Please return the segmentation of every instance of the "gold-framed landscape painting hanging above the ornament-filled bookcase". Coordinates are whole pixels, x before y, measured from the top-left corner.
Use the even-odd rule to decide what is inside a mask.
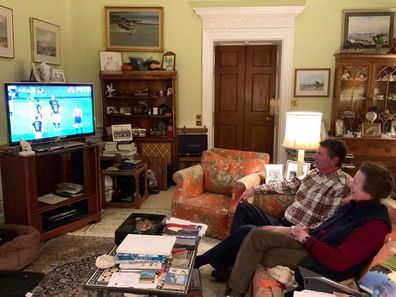
[[[107,50],[163,51],[163,7],[105,6],[105,19]]]

